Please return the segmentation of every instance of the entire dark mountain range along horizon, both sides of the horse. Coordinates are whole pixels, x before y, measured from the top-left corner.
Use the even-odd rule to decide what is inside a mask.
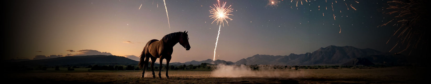
[[[380,51],[365,48],[355,48],[353,46],[328,46],[326,48],[319,48],[312,53],[305,54],[289,54],[284,56],[262,55],[256,54],[252,57],[247,57],[237,62],[225,60],[192,60],[185,63],[173,62],[170,65],[198,65],[201,63],[211,64],[226,64],[226,65],[373,65],[384,63],[403,63],[409,61],[409,57],[404,55],[394,55],[389,53],[382,53]],[[13,62],[13,61],[9,61]],[[25,60],[15,62],[18,64],[32,64],[32,65],[72,65],[72,64],[131,64],[136,65],[138,61],[128,59],[120,56],[106,56],[106,55],[91,55],[91,56],[69,56],[57,57],[42,60]],[[158,64],[157,64],[158,65]]]

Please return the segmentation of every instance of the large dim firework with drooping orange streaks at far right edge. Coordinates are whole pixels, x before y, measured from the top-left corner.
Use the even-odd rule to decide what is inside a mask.
[[[425,10],[427,9],[427,3],[425,3],[426,1],[427,0],[394,0],[387,2],[389,3],[389,6],[386,8],[388,12],[383,13],[388,15],[396,14],[397,16],[387,23],[379,25],[378,27],[385,26],[391,22],[394,24],[393,26],[398,27],[398,25],[400,25],[398,30],[395,31],[394,35],[392,35],[395,36],[398,34],[398,39],[396,39],[398,40],[396,42],[397,44],[394,45],[390,51],[392,51],[397,46],[398,48],[405,48],[402,51],[395,53],[400,54],[408,49],[416,49],[418,47],[426,48],[429,46],[423,45],[428,40],[426,38],[429,38],[427,35],[425,35],[425,30],[427,30],[427,27],[425,26],[427,25],[423,25],[427,23],[426,21],[428,21],[424,19],[424,15],[426,14]],[[389,38],[386,43],[388,43],[390,40],[391,38]],[[404,45],[404,43],[406,43],[406,45]],[[409,55],[411,52],[412,50],[410,50]]]

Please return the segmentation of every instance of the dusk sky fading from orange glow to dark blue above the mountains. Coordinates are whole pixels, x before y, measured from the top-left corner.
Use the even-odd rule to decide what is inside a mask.
[[[382,13],[387,0],[336,1],[304,0],[296,6],[295,0],[275,5],[269,0],[220,0],[233,8],[233,20],[221,27],[215,59],[305,54],[329,45],[382,52],[394,46],[386,42],[398,27],[377,27],[393,17]],[[169,28],[163,0],[11,1],[5,6],[9,51],[3,59],[78,56],[80,50],[139,56],[149,40],[184,30],[191,50],[177,44],[171,62],[212,59],[219,28],[209,17],[213,4],[217,0],[166,0]]]

